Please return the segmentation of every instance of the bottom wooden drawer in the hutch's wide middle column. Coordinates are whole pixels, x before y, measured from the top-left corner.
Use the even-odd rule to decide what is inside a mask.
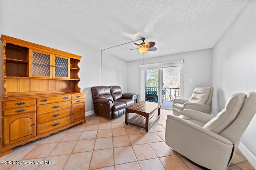
[[[37,134],[46,133],[70,124],[70,116],[37,125]]]

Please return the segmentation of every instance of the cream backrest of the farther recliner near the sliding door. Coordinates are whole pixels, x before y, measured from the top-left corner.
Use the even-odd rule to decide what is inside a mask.
[[[212,87],[196,87],[190,99],[189,103],[198,103],[198,104],[206,104],[208,106],[212,105],[212,95],[213,88]]]

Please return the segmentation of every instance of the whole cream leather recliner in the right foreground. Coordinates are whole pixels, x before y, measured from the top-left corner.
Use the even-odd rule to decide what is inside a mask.
[[[256,92],[250,92],[232,95],[216,117],[191,109],[168,115],[166,144],[200,166],[225,170],[255,112]]]

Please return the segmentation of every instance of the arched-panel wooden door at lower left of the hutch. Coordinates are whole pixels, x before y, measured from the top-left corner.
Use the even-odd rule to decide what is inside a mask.
[[[36,136],[36,112],[4,117],[4,145]]]

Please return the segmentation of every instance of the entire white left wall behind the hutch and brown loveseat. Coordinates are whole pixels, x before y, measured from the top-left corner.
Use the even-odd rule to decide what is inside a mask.
[[[127,62],[102,52],[102,82],[101,82],[101,50],[81,43],[46,27],[25,20],[1,9],[0,35],[22,39],[46,47],[66,51],[82,56],[79,63],[78,86],[86,92],[86,115],[94,113],[92,104],[92,86],[118,85],[122,92],[127,92]]]

